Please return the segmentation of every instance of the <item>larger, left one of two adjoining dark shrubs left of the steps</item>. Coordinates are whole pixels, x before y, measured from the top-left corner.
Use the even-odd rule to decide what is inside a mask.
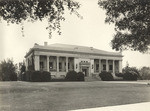
[[[67,81],[77,81],[77,72],[76,71],[69,71],[66,74],[65,80],[67,80]]]

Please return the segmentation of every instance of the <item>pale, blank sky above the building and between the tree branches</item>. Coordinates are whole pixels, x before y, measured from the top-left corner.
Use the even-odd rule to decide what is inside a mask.
[[[48,23],[46,20],[35,23],[24,23],[24,37],[21,26],[16,24],[7,25],[5,21],[0,23],[0,61],[13,58],[14,63],[22,62],[25,54],[34,43],[44,45],[62,43],[94,47],[100,50],[115,52],[111,48],[111,40],[115,34],[114,25],[106,24],[105,10],[99,8],[98,0],[76,0],[81,4],[78,10],[83,19],[75,14],[65,11],[66,20],[61,23],[62,34],[53,32],[49,39]],[[150,54],[142,54],[137,51],[123,51],[123,67],[129,66],[141,68],[150,67]]]

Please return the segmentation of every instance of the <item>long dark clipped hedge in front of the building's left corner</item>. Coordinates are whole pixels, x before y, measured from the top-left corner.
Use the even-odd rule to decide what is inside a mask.
[[[26,71],[22,73],[23,81],[31,81],[31,82],[48,82],[51,80],[51,75],[46,71]]]

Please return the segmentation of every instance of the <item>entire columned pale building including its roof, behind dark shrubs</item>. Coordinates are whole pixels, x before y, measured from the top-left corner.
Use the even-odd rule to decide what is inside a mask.
[[[25,55],[26,69],[51,72],[52,77],[64,77],[68,71],[83,72],[85,76],[109,71],[113,75],[122,72],[122,54],[93,47],[51,44],[35,44]]]

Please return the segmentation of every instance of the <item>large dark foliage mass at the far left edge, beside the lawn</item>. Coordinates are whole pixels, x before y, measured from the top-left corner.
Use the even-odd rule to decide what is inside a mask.
[[[16,67],[13,60],[8,59],[0,63],[0,80],[2,81],[17,81]]]

